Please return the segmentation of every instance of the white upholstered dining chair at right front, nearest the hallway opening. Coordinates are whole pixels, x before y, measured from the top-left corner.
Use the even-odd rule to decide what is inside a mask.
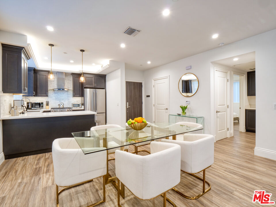
[[[205,170],[214,163],[214,136],[207,134],[184,134],[182,140],[162,139],[162,142],[175,143],[181,146],[181,171],[203,181],[202,192],[197,196],[186,196],[173,188],[184,198],[195,200],[211,189],[210,183],[205,180]],[[194,175],[203,171],[203,178]],[[205,189],[205,183],[209,185]]]

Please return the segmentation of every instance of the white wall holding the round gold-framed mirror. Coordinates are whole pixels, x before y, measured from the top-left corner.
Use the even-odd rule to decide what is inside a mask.
[[[271,30],[223,47],[218,47],[144,72],[146,119],[152,121],[152,79],[170,75],[170,114],[180,112],[179,105],[191,101],[188,114],[204,116],[204,131],[215,135],[213,66],[211,62],[227,57],[256,51],[256,147],[255,154],[276,160],[276,30]],[[192,65],[191,70],[185,66]],[[183,97],[178,89],[179,78],[194,73],[199,79],[198,92],[192,97]],[[263,91],[262,85],[268,85]],[[274,94],[274,95],[272,95]]]

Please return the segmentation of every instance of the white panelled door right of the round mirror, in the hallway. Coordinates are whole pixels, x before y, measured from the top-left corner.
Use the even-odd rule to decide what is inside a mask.
[[[228,81],[227,73],[215,71],[216,141],[228,137]]]

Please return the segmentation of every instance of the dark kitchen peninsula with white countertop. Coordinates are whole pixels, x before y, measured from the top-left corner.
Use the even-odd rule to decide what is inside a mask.
[[[52,151],[57,138],[72,137],[72,132],[88,131],[95,126],[92,111],[27,112],[3,116],[3,153],[5,159]]]

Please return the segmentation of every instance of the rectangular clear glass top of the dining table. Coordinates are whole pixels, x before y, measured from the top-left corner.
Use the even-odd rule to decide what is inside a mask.
[[[135,143],[168,138],[202,129],[202,127],[192,127],[189,125],[148,123],[147,126],[140,131],[135,131],[129,126],[125,126],[74,132],[72,135],[81,147],[83,153],[90,154],[116,148],[122,150],[124,147]]]

